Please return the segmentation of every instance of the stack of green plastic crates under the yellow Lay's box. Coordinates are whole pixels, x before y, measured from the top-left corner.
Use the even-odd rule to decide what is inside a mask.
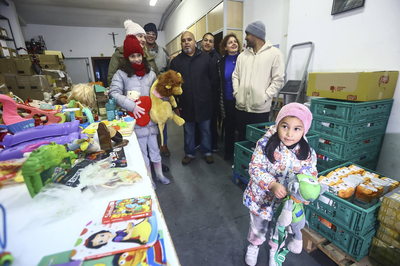
[[[318,170],[343,162],[374,170],[392,105],[393,99],[371,102],[312,99],[309,132],[320,136],[315,148],[320,157]]]

